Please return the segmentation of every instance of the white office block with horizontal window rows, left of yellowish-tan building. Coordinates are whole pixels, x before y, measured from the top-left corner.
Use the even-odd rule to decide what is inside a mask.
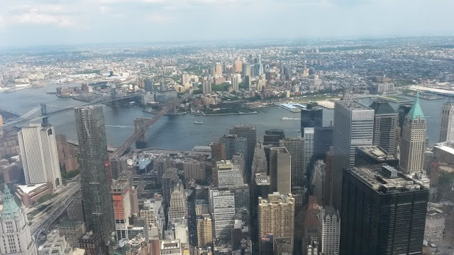
[[[225,189],[211,188],[209,204],[214,220],[214,237],[228,241],[235,220],[235,195]]]

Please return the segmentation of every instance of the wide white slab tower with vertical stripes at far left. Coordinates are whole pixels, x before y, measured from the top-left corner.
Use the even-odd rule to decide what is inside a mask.
[[[27,184],[52,183],[55,190],[62,184],[55,130],[34,125],[18,132],[23,173]]]

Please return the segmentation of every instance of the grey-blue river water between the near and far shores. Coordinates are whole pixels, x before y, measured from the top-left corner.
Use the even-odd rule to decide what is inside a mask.
[[[55,91],[59,85],[47,86],[40,89],[23,89],[9,94],[0,94],[0,108],[24,114],[40,103],[48,104],[48,111],[55,111],[58,107],[79,106],[83,102],[72,98],[60,98],[48,91]],[[370,98],[362,98],[362,103],[369,106]],[[421,99],[421,107],[428,122],[428,137],[431,145],[438,140],[440,125],[440,108],[443,100]],[[394,108],[398,103],[390,103]],[[104,106],[106,132],[109,145],[120,145],[133,132],[133,120],[136,117],[151,117],[153,114],[144,113],[142,108],[111,108]],[[228,132],[231,125],[240,123],[255,125],[258,139],[262,140],[265,130],[281,128],[286,137],[296,137],[299,133],[299,120],[282,120],[282,118],[299,118],[299,113],[292,113],[283,108],[272,106],[257,108],[258,114],[248,115],[220,115],[220,116],[194,116],[168,115],[163,116],[153,127],[148,130],[148,146],[159,149],[190,150],[195,145],[208,145],[209,142],[218,140]],[[194,125],[194,121],[202,121],[203,125]],[[323,108],[323,125],[329,125],[333,120],[333,110]],[[49,119],[55,127],[57,134],[67,135],[72,140],[77,140],[74,127],[74,113],[62,113]]]

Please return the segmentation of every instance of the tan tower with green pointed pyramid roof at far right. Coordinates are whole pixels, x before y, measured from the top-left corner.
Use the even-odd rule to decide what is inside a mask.
[[[426,150],[426,117],[419,106],[419,92],[413,107],[406,115],[402,127],[399,169],[407,174],[423,171],[424,151]]]

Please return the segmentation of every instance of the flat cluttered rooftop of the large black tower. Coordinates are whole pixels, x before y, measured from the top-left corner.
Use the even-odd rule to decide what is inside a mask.
[[[412,179],[387,164],[352,167],[346,171],[382,194],[413,192],[428,188],[425,183]]]

